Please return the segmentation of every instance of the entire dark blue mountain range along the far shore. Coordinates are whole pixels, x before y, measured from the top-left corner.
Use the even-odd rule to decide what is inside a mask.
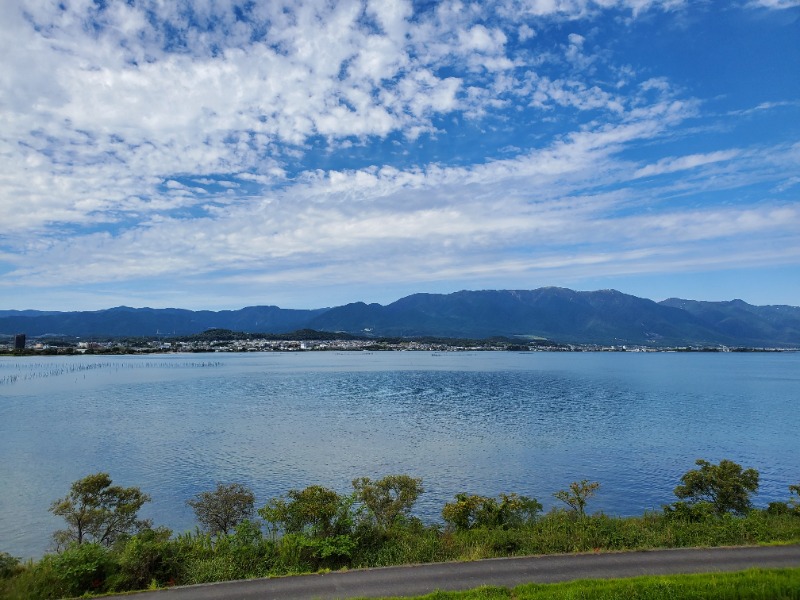
[[[356,302],[287,310],[118,307],[93,312],[0,311],[0,334],[80,337],[191,335],[211,328],[251,333],[298,329],[373,336],[548,338],[567,343],[651,346],[800,347],[800,308],[741,300],[653,302],[615,290],[565,288],[413,294],[386,306]]]

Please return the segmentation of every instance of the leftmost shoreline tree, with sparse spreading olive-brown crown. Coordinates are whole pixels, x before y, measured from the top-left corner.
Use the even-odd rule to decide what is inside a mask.
[[[111,483],[108,473],[87,475],[74,482],[64,498],[53,502],[50,512],[63,517],[68,526],[53,534],[58,548],[83,542],[110,546],[122,535],[150,527],[150,521],[137,518],[150,496],[139,488]]]

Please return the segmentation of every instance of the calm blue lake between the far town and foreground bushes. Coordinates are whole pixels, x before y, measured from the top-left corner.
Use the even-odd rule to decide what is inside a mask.
[[[192,530],[186,500],[240,482],[257,506],[408,473],[439,521],[458,492],[545,508],[601,484],[589,512],[659,510],[697,458],[800,483],[798,353],[299,352],[0,358],[0,551],[38,557],[70,484],[109,472],[141,515]]]

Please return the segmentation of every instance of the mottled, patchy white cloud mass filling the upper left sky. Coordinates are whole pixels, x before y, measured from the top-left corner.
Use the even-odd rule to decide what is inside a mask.
[[[165,195],[162,180],[244,171],[274,181],[281,155],[315,135],[344,146],[393,132],[414,140],[436,130],[438,115],[479,117],[505,106],[497,93],[529,85],[503,74],[515,65],[506,34],[475,23],[480,15],[459,3],[442,3],[430,18],[400,1],[111,6],[42,0],[23,12],[3,4],[0,43],[11,68],[0,75],[0,149],[10,158],[0,213],[8,228],[182,208],[191,197]],[[250,20],[237,20],[234,7]],[[437,75],[453,57],[497,78],[482,87]],[[537,106],[622,110],[597,86],[535,81]],[[29,208],[20,211],[23,199]]]

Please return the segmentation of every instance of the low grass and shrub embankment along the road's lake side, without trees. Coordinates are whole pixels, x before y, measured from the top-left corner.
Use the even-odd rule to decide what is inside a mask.
[[[196,532],[172,536],[168,530],[155,529],[121,540],[110,548],[85,543],[58,554],[46,555],[36,563],[9,565],[0,580],[0,597],[62,598],[327,569],[513,555],[799,541],[800,516],[770,514],[757,509],[744,516],[708,515],[700,519],[688,519],[666,512],[618,518],[605,515],[579,517],[573,512],[552,511],[518,527],[469,530],[443,529],[408,519],[385,530],[367,524],[356,525],[350,535],[329,538],[289,534],[272,539],[263,533],[261,527],[244,522],[229,535],[211,537]],[[754,589],[780,590],[783,588],[775,586],[784,585],[773,582],[777,575],[767,576],[756,572],[742,577],[752,580],[748,585]],[[780,575],[781,581],[786,577],[791,577],[795,589],[800,589],[797,585],[800,575],[797,572]],[[643,595],[637,597],[691,597],[682,592],[671,596],[647,595],[651,594],[650,587],[656,590],[652,594],[672,589],[658,583],[661,580],[654,578],[652,584],[642,584]],[[512,592],[491,591],[506,595],[465,597],[551,597],[526,595],[534,594],[537,589],[536,586],[525,586],[513,591],[515,595],[510,596],[508,594]],[[601,597],[595,594],[594,588],[586,589],[592,590],[591,593],[584,594],[579,588],[567,586],[563,592],[565,595],[552,597]],[[631,597],[627,592],[615,591],[618,589],[624,591],[626,588],[612,586],[608,591],[611,595],[605,597]],[[485,590],[474,592],[488,593]],[[796,597],[774,595],[771,592],[765,592],[764,596],[726,594],[719,592],[712,597]]]

